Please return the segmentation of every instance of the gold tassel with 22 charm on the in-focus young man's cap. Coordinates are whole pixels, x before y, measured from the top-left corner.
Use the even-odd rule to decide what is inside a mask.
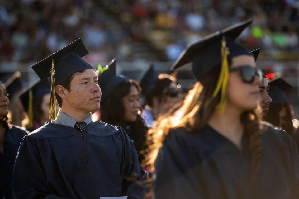
[[[52,68],[51,68],[51,87],[50,87],[50,107],[49,107],[49,119],[56,119],[56,96],[55,96],[55,70],[54,70],[54,59],[52,59]]]

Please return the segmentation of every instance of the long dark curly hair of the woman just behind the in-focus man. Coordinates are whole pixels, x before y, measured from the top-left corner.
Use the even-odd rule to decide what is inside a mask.
[[[133,79],[119,83],[109,95],[101,101],[101,121],[111,125],[119,125],[124,130],[130,132],[130,138],[134,140],[134,145],[137,152],[145,149],[145,140],[148,127],[145,125],[143,118],[137,115],[135,122],[126,123],[124,120],[124,105],[123,97],[129,94],[131,86],[135,86],[139,93],[141,88],[139,83]],[[139,153],[139,160],[143,159],[144,155]]]

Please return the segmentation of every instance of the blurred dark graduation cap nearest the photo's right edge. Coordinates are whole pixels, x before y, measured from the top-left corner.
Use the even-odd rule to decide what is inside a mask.
[[[288,102],[285,92],[290,91],[293,86],[281,77],[276,77],[268,80],[269,96],[272,99],[271,104],[281,104]]]

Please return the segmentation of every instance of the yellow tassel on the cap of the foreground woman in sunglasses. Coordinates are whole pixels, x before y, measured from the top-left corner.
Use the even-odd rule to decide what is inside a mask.
[[[219,78],[216,84],[216,88],[213,92],[213,97],[216,97],[220,92],[221,88],[221,97],[220,102],[217,106],[219,113],[224,113],[227,105],[227,82],[229,76],[229,65],[227,56],[230,54],[229,48],[226,47],[225,37],[222,37],[221,40],[221,70]]]

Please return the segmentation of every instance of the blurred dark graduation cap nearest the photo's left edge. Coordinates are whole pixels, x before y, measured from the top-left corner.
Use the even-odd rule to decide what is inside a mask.
[[[16,71],[12,76],[9,73],[0,73],[0,81],[5,85],[8,98],[11,100],[23,87],[21,82],[21,72]]]

